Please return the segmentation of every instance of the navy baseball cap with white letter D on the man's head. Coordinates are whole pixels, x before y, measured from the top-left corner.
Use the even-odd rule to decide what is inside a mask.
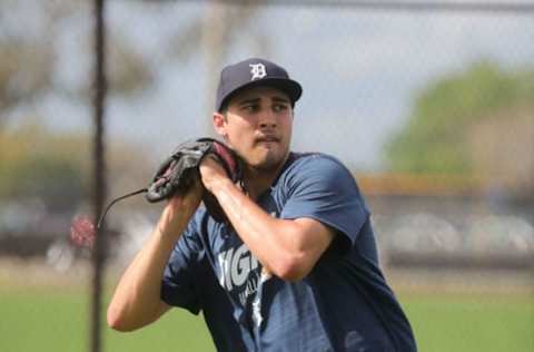
[[[264,59],[251,58],[222,69],[217,88],[216,111],[220,113],[237,92],[257,86],[280,89],[289,96],[293,105],[303,94],[300,84],[290,79],[283,67]]]

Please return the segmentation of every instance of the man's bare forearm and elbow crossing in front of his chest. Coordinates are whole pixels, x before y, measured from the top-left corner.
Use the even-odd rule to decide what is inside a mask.
[[[312,218],[271,217],[207,159],[200,169],[239,237],[265,268],[286,281],[299,281],[312,271],[335,233]]]

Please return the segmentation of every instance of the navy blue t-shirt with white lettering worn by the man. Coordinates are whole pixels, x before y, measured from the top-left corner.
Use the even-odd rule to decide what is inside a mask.
[[[337,159],[291,153],[257,203],[274,217],[336,231],[312,272],[296,283],[263,273],[231,225],[200,208],[165,271],[166,303],[202,311],[218,351],[416,351],[378,267],[369,212]]]

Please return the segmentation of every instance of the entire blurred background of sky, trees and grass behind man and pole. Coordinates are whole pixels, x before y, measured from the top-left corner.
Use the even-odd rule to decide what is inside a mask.
[[[88,350],[93,11],[0,1],[1,351]],[[293,148],[354,173],[421,351],[534,351],[534,2],[108,0],[106,26],[107,199],[214,136],[221,67],[274,60],[304,87]],[[106,299],[160,209],[111,211]],[[103,348],[214,351],[167,315]]]

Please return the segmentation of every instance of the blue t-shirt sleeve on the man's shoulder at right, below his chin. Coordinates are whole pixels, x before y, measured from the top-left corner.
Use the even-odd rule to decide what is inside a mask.
[[[280,217],[309,217],[328,225],[337,231],[336,242],[346,253],[369,217],[348,169],[334,158],[314,155],[295,167],[286,182],[288,198]]]

